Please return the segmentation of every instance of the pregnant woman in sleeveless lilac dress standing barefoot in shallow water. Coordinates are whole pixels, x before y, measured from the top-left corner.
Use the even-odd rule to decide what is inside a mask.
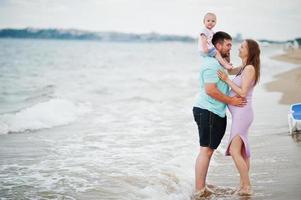
[[[231,155],[240,174],[239,195],[251,195],[250,146],[248,131],[253,122],[252,93],[260,76],[260,49],[254,40],[245,40],[239,48],[239,57],[242,60],[240,67],[228,70],[236,77],[231,81],[227,74],[218,72],[219,78],[230,88],[230,96],[241,96],[247,99],[244,107],[228,105],[232,115],[232,126],[226,155]]]

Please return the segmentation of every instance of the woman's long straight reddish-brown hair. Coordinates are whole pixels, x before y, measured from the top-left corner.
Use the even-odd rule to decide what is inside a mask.
[[[245,40],[248,45],[248,59],[246,65],[253,65],[255,68],[255,83],[256,85],[260,78],[260,48],[255,40]]]

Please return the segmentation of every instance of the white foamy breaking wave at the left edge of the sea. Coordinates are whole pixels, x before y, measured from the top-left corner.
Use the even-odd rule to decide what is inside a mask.
[[[39,130],[69,124],[91,111],[90,104],[50,99],[16,113],[0,115],[0,134]]]

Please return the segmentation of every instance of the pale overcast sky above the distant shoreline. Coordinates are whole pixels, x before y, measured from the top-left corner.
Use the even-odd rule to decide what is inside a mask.
[[[197,36],[206,12],[214,31],[243,38],[301,37],[301,0],[0,0],[0,28],[75,28]]]

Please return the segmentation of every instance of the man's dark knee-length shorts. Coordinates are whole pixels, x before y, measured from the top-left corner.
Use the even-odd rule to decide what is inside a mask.
[[[227,117],[198,107],[193,107],[193,116],[199,129],[200,146],[216,149],[224,137]]]

